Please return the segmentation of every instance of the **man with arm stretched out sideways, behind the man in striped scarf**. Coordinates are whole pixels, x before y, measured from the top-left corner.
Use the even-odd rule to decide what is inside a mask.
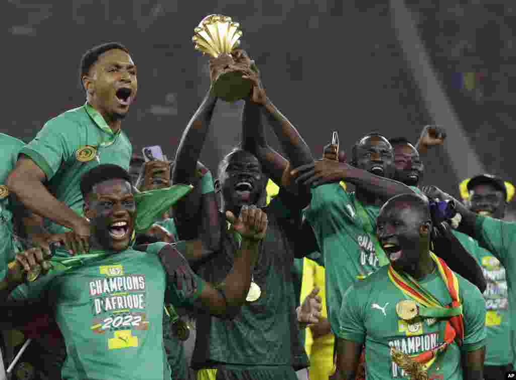
[[[351,164],[322,159],[315,161],[313,170],[301,167],[292,171],[298,183],[314,185],[303,236],[308,240],[312,235],[324,257],[328,319],[337,340],[346,290],[389,263],[374,234],[380,206],[394,195],[413,192],[389,179],[392,146],[380,134],[357,141],[351,156]],[[344,190],[341,180],[356,186],[356,191]]]

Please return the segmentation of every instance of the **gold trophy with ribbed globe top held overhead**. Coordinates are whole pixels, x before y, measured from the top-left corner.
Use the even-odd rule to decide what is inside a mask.
[[[221,14],[210,14],[199,23],[193,31],[192,37],[195,48],[203,54],[217,58],[221,54],[229,54],[240,44],[242,31],[240,24],[231,20],[231,17]],[[214,91],[217,97],[226,102],[243,99],[251,93],[252,83],[242,79],[248,75],[251,68],[247,64],[236,64],[238,68],[226,67],[214,75]]]

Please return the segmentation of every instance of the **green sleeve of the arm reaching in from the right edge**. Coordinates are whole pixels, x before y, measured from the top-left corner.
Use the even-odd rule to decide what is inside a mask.
[[[480,246],[506,266],[511,251],[516,249],[516,223],[477,215],[475,229]]]

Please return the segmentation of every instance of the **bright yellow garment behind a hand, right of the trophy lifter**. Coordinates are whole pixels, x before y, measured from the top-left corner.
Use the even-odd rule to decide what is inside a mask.
[[[303,259],[301,302],[310,294],[315,285],[320,289],[319,295],[322,299],[322,317],[328,318],[324,267],[317,265],[315,261],[305,257]],[[335,338],[333,334],[328,334],[314,340],[310,327],[306,329],[304,348],[307,351],[307,355],[310,357],[310,380],[328,380],[328,376],[333,373],[334,341]]]

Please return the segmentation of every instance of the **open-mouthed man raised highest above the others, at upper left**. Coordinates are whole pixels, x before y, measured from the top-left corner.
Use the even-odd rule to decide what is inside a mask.
[[[91,48],[80,61],[79,79],[86,103],[46,122],[7,179],[27,209],[53,222],[49,233],[60,234],[50,238],[41,230],[30,236],[47,253],[49,241],[56,240],[75,253],[89,250],[80,177],[101,162],[128,169],[132,155],[121,129],[138,89],[128,49],[119,43]]]

